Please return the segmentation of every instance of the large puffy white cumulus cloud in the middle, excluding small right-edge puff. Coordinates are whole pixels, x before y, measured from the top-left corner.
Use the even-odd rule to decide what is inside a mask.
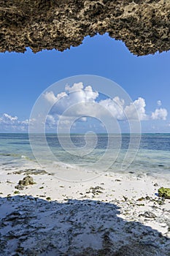
[[[98,97],[98,91],[93,91],[91,86],[84,88],[82,83],[74,83],[73,86],[66,85],[65,91],[56,96],[52,91],[45,93],[45,99],[47,99],[48,102],[55,103],[50,111],[50,114],[53,116],[61,116],[66,109],[76,105],[78,102],[98,102],[105,110],[109,110],[112,116],[117,118],[117,120],[125,120],[127,118],[147,120],[149,118],[145,113],[145,101],[141,97],[131,102],[130,105],[125,105],[125,100],[120,99],[118,96],[113,99],[107,98],[101,100],[99,100]],[[96,116],[102,116],[101,109],[98,111],[96,105],[82,105],[80,109],[74,109],[72,116],[81,116],[88,108],[91,108],[91,113],[96,113]],[[106,111],[104,111],[104,113],[106,113]],[[71,113],[69,112],[69,114]]]

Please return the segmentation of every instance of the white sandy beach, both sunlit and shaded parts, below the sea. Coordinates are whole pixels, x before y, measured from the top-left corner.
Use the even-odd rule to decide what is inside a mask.
[[[18,186],[31,176],[34,184]],[[170,181],[104,173],[62,181],[41,169],[1,176],[1,255],[169,255]]]

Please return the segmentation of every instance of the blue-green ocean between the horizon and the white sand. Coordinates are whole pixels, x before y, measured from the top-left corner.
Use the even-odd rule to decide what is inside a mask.
[[[139,135],[135,135],[137,140]],[[77,170],[96,170],[126,172],[152,176],[170,176],[170,134],[142,134],[139,149],[130,151],[123,167],[123,160],[128,151],[131,135],[112,135],[109,150],[108,135],[98,134],[96,140],[89,135],[91,143],[88,151],[84,151],[85,136],[80,134],[62,135],[61,139],[55,134],[47,134],[45,145],[42,135],[31,135],[31,144],[28,134],[1,133],[0,134],[0,172],[7,173],[21,168],[66,168],[72,172]],[[87,139],[86,138],[86,139]],[[69,140],[70,139],[70,140]],[[93,143],[95,141],[95,143]],[[71,143],[72,142],[72,143]],[[113,143],[112,143],[113,142]],[[93,148],[94,146],[94,148]],[[32,147],[32,149],[31,149]],[[76,148],[76,151],[75,151]],[[78,148],[78,150],[77,150]],[[34,153],[33,153],[34,151]],[[107,154],[105,152],[107,151]],[[34,156],[36,155],[36,157]],[[133,160],[133,162],[131,162]],[[37,163],[38,161],[38,163]]]

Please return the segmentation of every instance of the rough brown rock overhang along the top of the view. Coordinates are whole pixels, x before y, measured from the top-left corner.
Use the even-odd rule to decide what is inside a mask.
[[[142,56],[170,49],[170,0],[1,0],[0,52],[65,50],[109,33]]]

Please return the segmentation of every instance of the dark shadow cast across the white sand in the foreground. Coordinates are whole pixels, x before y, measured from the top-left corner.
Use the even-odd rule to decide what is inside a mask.
[[[95,200],[0,197],[0,255],[170,255],[170,241],[119,208]]]

